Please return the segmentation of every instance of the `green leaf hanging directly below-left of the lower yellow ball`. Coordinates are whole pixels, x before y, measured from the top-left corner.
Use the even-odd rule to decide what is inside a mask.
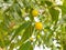
[[[32,36],[33,27],[32,24],[29,26],[29,28],[25,29],[23,36],[22,36],[22,42],[24,42],[26,39],[29,39]]]

